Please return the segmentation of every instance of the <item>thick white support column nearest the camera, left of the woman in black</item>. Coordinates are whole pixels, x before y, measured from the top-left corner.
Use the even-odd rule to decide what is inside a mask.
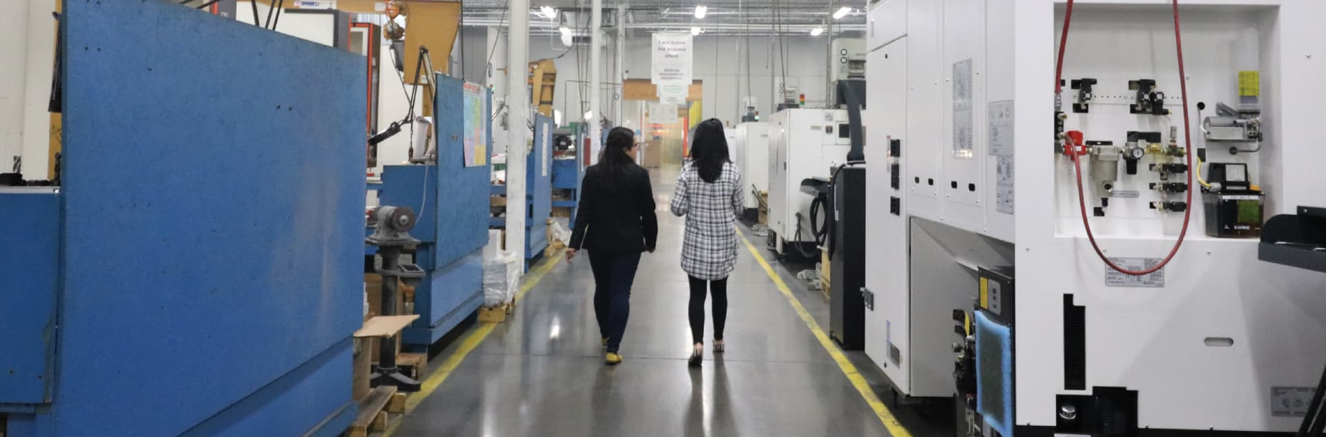
[[[529,131],[529,0],[508,0],[507,28],[507,250],[525,257],[525,144]]]

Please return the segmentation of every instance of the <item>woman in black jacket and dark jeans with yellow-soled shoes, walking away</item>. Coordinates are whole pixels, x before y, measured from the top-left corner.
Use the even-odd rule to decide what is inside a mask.
[[[654,215],[650,173],[635,164],[635,134],[614,127],[599,163],[585,170],[579,211],[566,261],[589,250],[594,270],[594,314],[606,355],[603,362],[622,362],[617,354],[631,311],[631,282],[642,252],[654,252],[659,222]]]

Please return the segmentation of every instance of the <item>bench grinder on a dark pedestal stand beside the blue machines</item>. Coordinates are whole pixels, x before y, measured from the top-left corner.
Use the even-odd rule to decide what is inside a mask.
[[[373,236],[365,238],[370,245],[378,246],[378,256],[382,257],[382,314],[394,315],[396,313],[396,287],[400,281],[416,282],[424,275],[423,269],[412,264],[400,264],[400,252],[406,246],[419,244],[419,240],[410,237],[408,230],[414,228],[415,215],[410,208],[379,207],[373,212],[375,230]],[[369,385],[395,385],[402,392],[418,392],[418,380],[400,373],[396,368],[396,338],[381,338],[378,347],[378,365],[369,376]]]

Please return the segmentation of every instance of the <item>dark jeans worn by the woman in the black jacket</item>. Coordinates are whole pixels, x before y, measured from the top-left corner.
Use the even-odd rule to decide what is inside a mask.
[[[617,354],[626,334],[631,283],[639,265],[639,253],[589,250],[589,266],[594,270],[594,315],[598,318],[598,332],[607,339],[607,351],[613,354]]]

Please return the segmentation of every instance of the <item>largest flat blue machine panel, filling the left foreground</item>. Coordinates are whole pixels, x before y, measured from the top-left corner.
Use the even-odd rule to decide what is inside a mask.
[[[176,436],[251,396],[339,417],[349,367],[298,408],[264,387],[362,323],[362,57],[166,0],[61,25],[56,434]]]

